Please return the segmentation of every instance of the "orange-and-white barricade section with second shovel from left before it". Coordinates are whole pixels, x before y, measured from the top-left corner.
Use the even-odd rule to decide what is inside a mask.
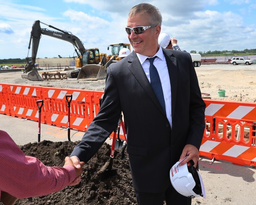
[[[87,130],[94,119],[93,91],[43,87],[45,117],[49,125],[67,127],[68,107],[66,95],[72,95],[70,128]]]

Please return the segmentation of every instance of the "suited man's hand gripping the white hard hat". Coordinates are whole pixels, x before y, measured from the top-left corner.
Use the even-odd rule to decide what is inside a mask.
[[[187,158],[185,158],[186,156],[187,156]],[[195,147],[194,145],[187,144],[183,148],[182,154],[180,155],[179,161],[183,160],[180,163],[180,165],[184,165],[185,163],[189,162],[191,159],[194,161],[194,167],[196,167],[197,161],[199,160],[199,151],[198,151],[197,147]]]

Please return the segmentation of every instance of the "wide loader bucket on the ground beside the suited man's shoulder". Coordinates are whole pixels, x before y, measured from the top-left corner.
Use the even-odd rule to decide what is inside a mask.
[[[81,68],[77,79],[100,80],[106,79],[107,73],[102,65],[91,64]]]

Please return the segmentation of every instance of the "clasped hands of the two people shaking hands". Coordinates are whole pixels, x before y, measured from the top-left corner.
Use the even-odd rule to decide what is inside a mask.
[[[78,158],[76,156],[73,156],[71,158],[66,156],[65,164],[64,164],[63,167],[65,167],[67,165],[71,165],[73,168],[75,168],[75,171],[76,171],[76,178],[73,180],[73,182],[68,184],[68,186],[75,186],[75,185],[80,183],[81,175],[83,173],[83,165],[84,164],[85,164],[84,162],[79,162],[79,160],[78,160]]]

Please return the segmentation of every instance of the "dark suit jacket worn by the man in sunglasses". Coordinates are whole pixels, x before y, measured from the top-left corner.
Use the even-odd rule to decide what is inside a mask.
[[[205,128],[205,103],[190,54],[163,51],[171,81],[172,129],[133,51],[107,69],[100,112],[71,154],[88,161],[112,133],[122,111],[133,186],[149,193],[168,188],[172,165],[186,144],[199,149]]]

